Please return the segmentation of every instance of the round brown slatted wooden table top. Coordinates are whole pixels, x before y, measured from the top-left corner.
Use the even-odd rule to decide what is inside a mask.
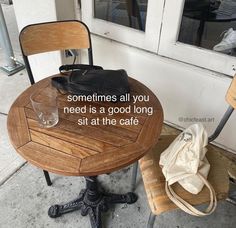
[[[51,87],[50,77],[26,89],[13,103],[8,115],[8,133],[16,151],[27,161],[44,170],[69,176],[95,176],[110,173],[132,164],[143,157],[159,138],[163,111],[156,96],[140,82],[129,78],[132,95],[148,95],[148,102],[137,102],[139,107],[153,107],[153,114],[65,114],[63,107],[93,105],[127,107],[129,102],[68,102],[58,93],[59,123],[42,128],[37,122],[30,95]],[[137,117],[138,125],[80,126],[81,117],[129,119]]]

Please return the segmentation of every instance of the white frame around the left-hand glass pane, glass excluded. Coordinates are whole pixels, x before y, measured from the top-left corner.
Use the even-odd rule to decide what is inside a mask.
[[[93,0],[81,0],[82,21],[94,34],[157,53],[164,2],[148,0],[145,32],[94,18]]]

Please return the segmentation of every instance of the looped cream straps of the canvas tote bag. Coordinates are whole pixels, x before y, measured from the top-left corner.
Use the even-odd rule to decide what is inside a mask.
[[[207,186],[210,192],[210,203],[204,212],[193,207],[191,204],[189,204],[180,196],[178,196],[174,192],[172,187],[168,184],[168,182],[166,182],[165,184],[166,194],[176,206],[178,206],[181,210],[185,211],[186,213],[190,215],[194,215],[194,216],[210,215],[216,209],[216,206],[217,206],[216,193],[212,185],[207,181],[207,179],[204,176],[202,176],[200,173],[197,173],[197,175],[199,176],[199,178],[201,178],[201,180]]]

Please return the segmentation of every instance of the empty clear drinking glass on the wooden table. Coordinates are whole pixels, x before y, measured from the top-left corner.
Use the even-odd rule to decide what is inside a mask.
[[[55,126],[58,121],[57,91],[46,88],[30,96],[31,104],[43,128]]]

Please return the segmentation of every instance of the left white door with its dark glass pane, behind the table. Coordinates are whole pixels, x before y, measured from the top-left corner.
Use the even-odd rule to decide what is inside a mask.
[[[151,52],[158,50],[164,0],[82,0],[92,33]]]

